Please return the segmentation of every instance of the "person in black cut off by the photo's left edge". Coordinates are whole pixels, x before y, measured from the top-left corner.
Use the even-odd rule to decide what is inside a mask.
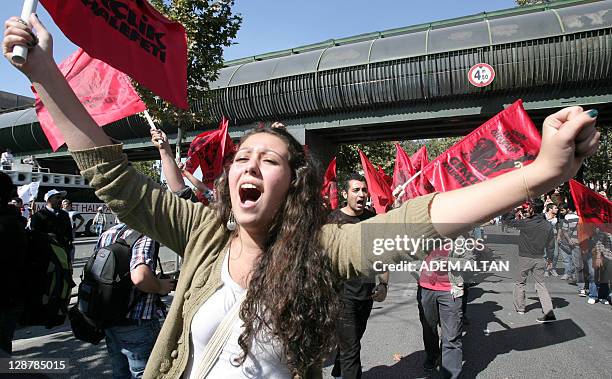
[[[8,204],[14,190],[11,177],[0,172],[0,240],[3,243],[0,266],[4,268],[0,275],[0,288],[4,291],[3,300],[0,301],[0,351],[9,355],[17,320],[23,312],[27,248],[19,209]]]

